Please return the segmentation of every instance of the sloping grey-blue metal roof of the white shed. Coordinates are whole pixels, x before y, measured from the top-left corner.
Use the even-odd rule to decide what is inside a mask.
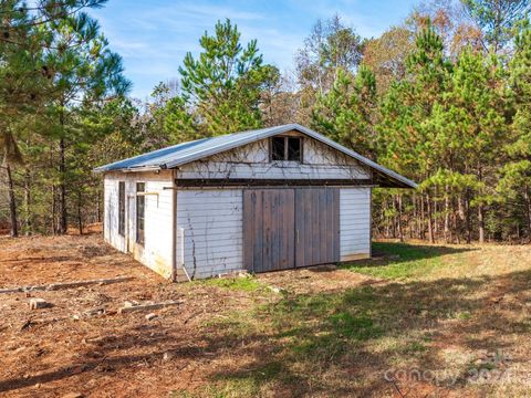
[[[154,150],[147,154],[138,155],[125,160],[115,161],[110,165],[100,166],[96,167],[94,171],[144,171],[175,168],[211,155],[230,150],[239,146],[269,138],[271,136],[287,133],[290,130],[298,130],[323,144],[326,144],[342,151],[343,154],[353,157],[363,165],[368,166],[373,170],[377,171],[377,174],[383,175],[396,182],[400,182],[400,186],[417,188],[417,184],[415,184],[414,181],[299,124],[287,124],[282,126],[227,134],[211,138],[201,138],[194,142],[183,143],[167,148]]]

